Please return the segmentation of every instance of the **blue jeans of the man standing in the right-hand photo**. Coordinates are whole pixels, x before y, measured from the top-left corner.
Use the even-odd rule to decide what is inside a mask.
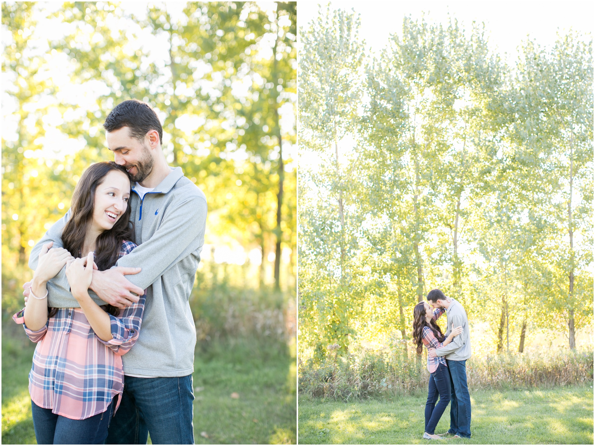
[[[467,388],[467,370],[464,361],[446,360],[450,370],[450,434],[471,436],[471,398]]]

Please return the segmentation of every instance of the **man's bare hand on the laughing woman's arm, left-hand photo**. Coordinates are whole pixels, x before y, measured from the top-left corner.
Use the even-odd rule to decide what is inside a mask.
[[[139,296],[145,294],[145,290],[132,284],[124,275],[139,272],[140,268],[124,266],[116,266],[105,271],[93,271],[93,280],[89,288],[95,291],[100,299],[114,307],[129,307],[139,301]]]

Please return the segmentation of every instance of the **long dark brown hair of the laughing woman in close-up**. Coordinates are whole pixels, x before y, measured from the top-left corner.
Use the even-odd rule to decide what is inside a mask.
[[[62,230],[62,243],[64,249],[70,254],[79,258],[83,249],[84,237],[87,233],[87,226],[93,218],[95,210],[95,191],[99,184],[102,184],[106,175],[111,171],[120,171],[128,177],[128,172],[123,166],[113,161],[98,162],[90,165],[84,171],[82,177],[74,189],[72,204],[70,206],[70,218]],[[111,230],[104,231],[95,241],[95,263],[99,271],[111,268],[120,257],[120,250],[124,240],[134,240],[134,229],[130,220],[130,206],[120,216]],[[108,313],[117,315],[120,310],[111,305],[102,306]],[[57,309],[50,309],[49,317],[54,316]]]

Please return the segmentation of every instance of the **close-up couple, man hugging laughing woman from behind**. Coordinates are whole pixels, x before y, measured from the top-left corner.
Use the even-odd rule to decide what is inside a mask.
[[[70,210],[33,248],[26,307],[38,444],[193,444],[189,297],[206,197],[162,152],[155,111],[117,105],[115,161],[90,165]]]

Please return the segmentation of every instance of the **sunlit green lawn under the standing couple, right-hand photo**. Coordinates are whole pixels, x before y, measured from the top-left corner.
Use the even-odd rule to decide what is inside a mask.
[[[426,395],[343,403],[299,397],[300,444],[430,444]],[[471,393],[471,439],[454,444],[593,444],[593,387]],[[436,433],[450,425],[450,405]]]

